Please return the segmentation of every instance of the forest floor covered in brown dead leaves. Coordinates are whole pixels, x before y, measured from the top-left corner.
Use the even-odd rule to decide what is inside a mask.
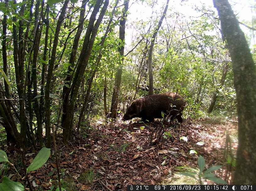
[[[152,129],[162,126],[158,120],[146,125],[138,122],[107,125],[98,121],[87,136],[71,141],[72,149],[67,149],[58,136],[57,152],[63,187],[70,191],[126,190],[129,184],[196,184],[192,179],[182,179],[177,172],[196,169],[199,155],[204,157],[207,168],[224,165],[216,174],[229,182],[227,172],[231,169],[226,171],[224,153],[225,150],[236,151],[237,122],[207,118],[175,125],[167,129],[168,133],[156,146],[150,146],[150,138]],[[231,138],[230,149],[225,146],[226,129]],[[197,154],[189,154],[190,150]],[[15,165],[21,166],[22,161],[14,151],[7,149],[7,155]],[[28,175],[35,190],[57,186],[56,163],[52,155],[42,168]],[[34,157],[35,154],[31,154],[24,158],[27,166]],[[13,175],[11,179],[15,178]]]

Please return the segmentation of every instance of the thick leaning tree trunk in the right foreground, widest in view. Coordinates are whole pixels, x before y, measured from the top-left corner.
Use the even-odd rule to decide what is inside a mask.
[[[256,184],[256,68],[244,33],[227,0],[214,0],[232,59],[237,93],[238,148],[233,184]]]

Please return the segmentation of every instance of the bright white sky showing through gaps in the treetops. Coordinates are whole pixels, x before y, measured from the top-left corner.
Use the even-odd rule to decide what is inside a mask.
[[[244,20],[251,20],[252,14],[250,5],[253,4],[253,2],[256,4],[253,0],[229,0],[229,3],[233,5],[232,8],[235,14],[237,14],[237,18],[239,18],[239,21],[241,22]],[[193,7],[195,5],[200,7],[203,3],[206,7],[211,7],[211,9],[216,11],[216,9],[213,7],[212,0],[188,0],[182,4],[181,0],[170,0],[167,14],[168,12],[170,13],[177,11],[185,15],[188,19],[189,17],[198,17],[201,15],[201,13],[196,12]],[[127,47],[129,47],[131,42],[137,38],[136,31],[134,31],[131,27],[132,23],[137,20],[148,21],[150,20],[152,14],[152,9],[146,3],[141,3],[139,0],[130,0],[129,4],[130,6],[128,10],[130,14],[127,17],[125,36]],[[165,5],[166,0],[158,0],[158,5],[155,6],[154,11],[157,11],[161,14]],[[250,32],[244,26],[240,27],[244,32]]]

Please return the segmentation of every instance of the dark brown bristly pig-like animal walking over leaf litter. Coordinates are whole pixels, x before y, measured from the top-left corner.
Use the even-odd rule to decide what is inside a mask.
[[[169,114],[171,120],[177,118],[182,123],[182,111],[186,106],[184,98],[173,92],[150,95],[134,100],[128,107],[122,120],[142,118],[143,121],[153,121],[155,118],[162,118],[162,112]]]

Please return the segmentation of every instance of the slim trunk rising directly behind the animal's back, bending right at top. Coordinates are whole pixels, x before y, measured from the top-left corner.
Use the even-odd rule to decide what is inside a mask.
[[[168,8],[168,4],[169,4],[169,0],[167,0],[166,2],[166,6],[164,9],[164,12],[159,20],[159,23],[157,25],[157,27],[154,29],[154,34],[151,38],[151,42],[150,42],[150,48],[149,48],[149,59],[148,59],[148,63],[149,63],[149,95],[153,94],[153,67],[152,67],[152,54],[153,54],[153,49],[154,49],[154,43],[155,43],[155,37],[157,35],[157,32],[159,30],[159,28],[161,27],[161,24],[163,22],[163,19],[165,18],[166,15],[166,11]]]

